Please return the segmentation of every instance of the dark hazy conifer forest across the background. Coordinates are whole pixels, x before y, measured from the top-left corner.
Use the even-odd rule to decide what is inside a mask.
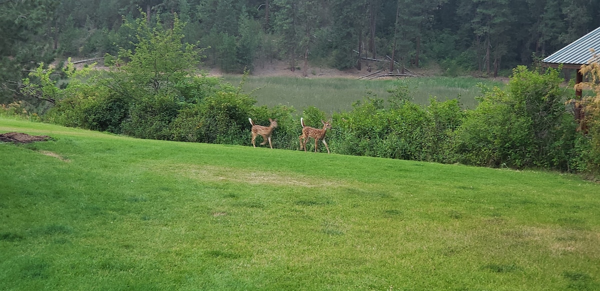
[[[184,41],[209,47],[205,65],[226,72],[274,58],[290,69],[309,60],[359,68],[361,56],[387,55],[407,67],[497,75],[600,26],[598,0],[2,0],[0,8],[3,83],[53,57],[132,48],[124,23],[141,12],[148,23],[177,14]]]

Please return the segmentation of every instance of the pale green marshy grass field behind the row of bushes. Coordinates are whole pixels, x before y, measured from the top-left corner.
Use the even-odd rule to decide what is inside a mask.
[[[239,75],[225,75],[223,80],[239,84]],[[352,102],[364,99],[367,91],[379,98],[387,99],[388,89],[394,84],[409,87],[413,102],[428,105],[431,96],[440,101],[460,98],[465,108],[475,108],[480,89],[478,83],[488,86],[504,84],[496,81],[469,77],[424,77],[401,78],[399,80],[354,80],[350,78],[291,78],[291,77],[248,77],[244,91],[253,92],[258,105],[291,105],[296,110],[314,106],[328,114],[352,110]],[[460,96],[460,97],[459,97]]]

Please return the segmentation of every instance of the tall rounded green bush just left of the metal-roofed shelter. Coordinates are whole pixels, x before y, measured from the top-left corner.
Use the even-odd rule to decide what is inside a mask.
[[[485,90],[457,131],[460,161],[523,168],[568,167],[574,147],[572,119],[565,116],[559,71],[514,69],[506,91]]]

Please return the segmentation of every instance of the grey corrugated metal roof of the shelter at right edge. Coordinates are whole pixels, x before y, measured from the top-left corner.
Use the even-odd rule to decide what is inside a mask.
[[[596,54],[600,54],[600,27],[561,48],[556,53],[550,54],[542,62],[548,66],[558,66],[562,63],[564,64],[563,68],[578,69],[594,56],[590,48],[593,48]]]

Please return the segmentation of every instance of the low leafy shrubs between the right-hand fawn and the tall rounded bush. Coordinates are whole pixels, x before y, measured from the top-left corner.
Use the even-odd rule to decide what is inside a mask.
[[[335,115],[332,148],[359,156],[448,162],[449,132],[462,118],[458,101],[432,100],[423,108],[403,100],[392,98],[386,110],[381,99],[367,98],[353,111]]]

